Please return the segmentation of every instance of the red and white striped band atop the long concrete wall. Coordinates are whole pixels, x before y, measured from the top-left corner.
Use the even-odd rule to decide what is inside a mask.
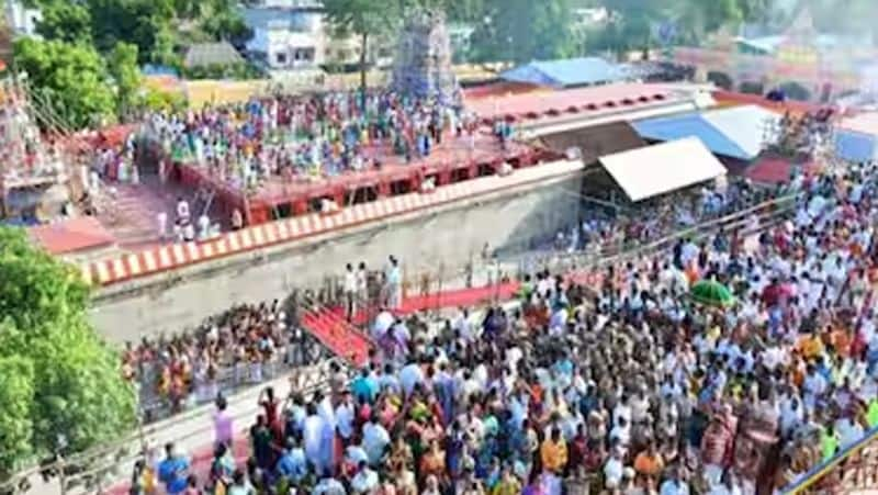
[[[452,203],[510,187],[562,177],[582,169],[581,161],[555,161],[517,170],[507,177],[485,177],[437,188],[430,193],[410,193],[357,204],[333,214],[309,214],[230,232],[216,239],[168,244],[140,252],[85,263],[81,269],[93,285],[112,285],[179,268],[239,255],[260,248],[323,235],[393,216]]]

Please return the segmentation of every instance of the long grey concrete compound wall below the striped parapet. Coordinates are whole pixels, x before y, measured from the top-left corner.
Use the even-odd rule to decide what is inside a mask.
[[[293,289],[317,286],[347,262],[382,267],[389,255],[404,270],[438,272],[464,266],[485,243],[492,248],[553,235],[577,220],[582,172],[484,194],[290,245],[243,254],[170,274],[108,286],[91,316],[111,342],[170,334],[199,325],[234,304],[283,300]],[[449,268],[451,271],[451,268]]]

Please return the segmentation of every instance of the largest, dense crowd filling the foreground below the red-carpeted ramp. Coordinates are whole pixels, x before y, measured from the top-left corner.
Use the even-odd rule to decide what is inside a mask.
[[[169,446],[157,477],[170,493],[234,495],[795,483],[878,426],[875,177],[852,166],[809,178],[795,217],[755,241],[684,239],[609,267],[599,288],[541,272],[511,311],[439,327],[380,316],[394,351],[373,351],[350,380],[337,370],[313,396],[263,393],[246,464],[217,427],[210,474]],[[695,303],[696,281],[736,302]]]

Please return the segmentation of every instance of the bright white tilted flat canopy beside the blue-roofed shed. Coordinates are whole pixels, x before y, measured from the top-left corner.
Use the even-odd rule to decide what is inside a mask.
[[[725,176],[697,137],[607,155],[600,164],[632,202]]]

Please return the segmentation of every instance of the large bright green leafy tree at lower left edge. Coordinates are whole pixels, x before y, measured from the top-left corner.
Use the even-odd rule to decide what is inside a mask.
[[[78,270],[2,227],[0,273],[0,462],[54,451],[60,436],[79,451],[127,431],[135,394],[89,324]]]

